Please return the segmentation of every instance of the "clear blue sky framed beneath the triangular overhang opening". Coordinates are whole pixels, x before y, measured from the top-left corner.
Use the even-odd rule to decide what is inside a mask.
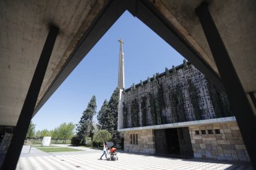
[[[117,87],[120,38],[126,88],[184,60],[138,18],[124,12],[34,116],[36,131],[51,130],[64,122],[77,124],[92,95],[100,110]]]

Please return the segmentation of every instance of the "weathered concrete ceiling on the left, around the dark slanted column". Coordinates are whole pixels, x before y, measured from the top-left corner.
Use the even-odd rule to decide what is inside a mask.
[[[0,2],[0,125],[17,123],[49,24],[58,26],[61,33],[56,39],[37,104],[106,2]]]

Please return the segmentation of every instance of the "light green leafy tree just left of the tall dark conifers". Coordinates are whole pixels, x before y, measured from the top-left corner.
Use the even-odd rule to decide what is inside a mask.
[[[66,144],[66,140],[74,136],[75,124],[73,123],[62,123],[59,126],[59,135],[63,139],[63,144]]]

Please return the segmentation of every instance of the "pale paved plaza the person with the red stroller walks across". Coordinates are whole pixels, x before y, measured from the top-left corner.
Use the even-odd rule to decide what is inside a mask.
[[[63,147],[66,147],[65,145]],[[75,147],[78,148],[78,147]],[[33,148],[34,149],[34,148]],[[87,150],[88,149],[88,150]],[[249,164],[181,159],[163,156],[119,152],[118,161],[99,160],[101,150],[84,148],[82,152],[30,153],[20,155],[17,169],[253,169]],[[26,156],[25,156],[26,155]]]

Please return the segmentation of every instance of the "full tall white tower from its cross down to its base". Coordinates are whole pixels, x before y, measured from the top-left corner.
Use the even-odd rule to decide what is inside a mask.
[[[118,84],[117,87],[119,88],[119,102],[118,102],[118,125],[117,131],[123,128],[123,115],[122,115],[122,108],[124,102],[124,96],[122,95],[122,91],[124,91],[124,53],[122,52],[122,44],[124,42],[122,39],[118,40],[120,42],[120,51],[119,51],[119,69],[118,69]]]

